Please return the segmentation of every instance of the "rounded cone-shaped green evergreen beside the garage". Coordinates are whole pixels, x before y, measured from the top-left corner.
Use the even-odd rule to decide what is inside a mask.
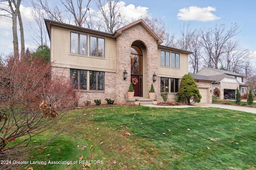
[[[188,105],[191,105],[191,98],[194,98],[194,102],[200,102],[202,98],[196,86],[196,82],[194,81],[194,78],[190,74],[185,74],[182,77],[178,95],[180,100],[187,99]]]

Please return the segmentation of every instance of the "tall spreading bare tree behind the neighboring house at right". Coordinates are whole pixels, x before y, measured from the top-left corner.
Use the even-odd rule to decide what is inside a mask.
[[[239,26],[234,23],[227,29],[225,24],[215,25],[214,29],[201,30],[201,44],[205,49],[205,63],[208,67],[218,68],[221,55],[226,53],[225,45],[238,35]]]

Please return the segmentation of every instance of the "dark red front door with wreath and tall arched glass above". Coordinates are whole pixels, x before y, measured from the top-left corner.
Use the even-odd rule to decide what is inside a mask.
[[[131,47],[131,82],[134,96],[143,96],[142,91],[142,51],[137,46]]]

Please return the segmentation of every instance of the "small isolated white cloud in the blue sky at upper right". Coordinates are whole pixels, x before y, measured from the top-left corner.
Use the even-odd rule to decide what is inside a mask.
[[[179,10],[177,15],[179,20],[189,21],[189,20],[196,20],[196,21],[214,21],[220,19],[216,15],[212,14],[212,11],[216,11],[216,8],[213,7],[206,7],[200,8],[197,6],[190,6],[188,8],[182,8]]]

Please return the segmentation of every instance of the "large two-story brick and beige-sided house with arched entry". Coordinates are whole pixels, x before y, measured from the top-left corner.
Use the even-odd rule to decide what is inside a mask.
[[[162,102],[161,92],[174,99],[184,74],[188,74],[189,51],[160,45],[162,40],[143,20],[135,21],[113,34],[45,20],[50,37],[52,78],[64,76],[73,81],[86,100],[105,98],[126,103],[131,79],[134,96],[148,99],[151,84],[156,98]],[[124,72],[128,73],[124,78]],[[153,81],[153,75],[157,75]]]

